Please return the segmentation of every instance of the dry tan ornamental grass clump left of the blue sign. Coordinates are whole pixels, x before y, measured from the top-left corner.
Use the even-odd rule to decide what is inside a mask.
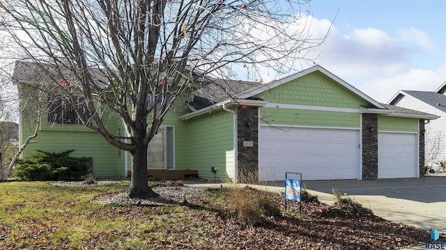
[[[241,224],[259,225],[266,217],[280,215],[280,204],[271,194],[254,188],[233,188],[228,193],[229,215]]]

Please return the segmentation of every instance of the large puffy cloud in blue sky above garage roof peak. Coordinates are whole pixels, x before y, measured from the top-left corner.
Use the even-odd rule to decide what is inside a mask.
[[[321,36],[330,24],[313,19],[314,35]],[[340,76],[369,78],[392,76],[410,69],[411,56],[433,48],[433,42],[417,28],[401,29],[390,35],[377,28],[355,28],[347,34],[332,26],[330,35],[321,45],[317,63]]]

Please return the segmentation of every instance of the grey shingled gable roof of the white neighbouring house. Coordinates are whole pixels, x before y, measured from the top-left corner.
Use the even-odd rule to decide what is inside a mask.
[[[446,113],[446,95],[438,92],[400,90],[388,103],[395,105],[405,95],[419,99],[433,108],[437,108]]]

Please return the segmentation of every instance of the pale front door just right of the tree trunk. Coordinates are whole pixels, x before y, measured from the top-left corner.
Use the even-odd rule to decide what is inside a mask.
[[[148,143],[148,169],[166,169],[166,131],[158,128],[158,133]]]

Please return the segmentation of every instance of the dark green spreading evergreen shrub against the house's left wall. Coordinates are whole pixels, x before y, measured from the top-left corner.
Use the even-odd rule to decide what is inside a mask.
[[[91,158],[70,156],[74,150],[61,153],[36,151],[31,158],[19,158],[15,177],[24,181],[56,181],[81,178],[88,172]]]

